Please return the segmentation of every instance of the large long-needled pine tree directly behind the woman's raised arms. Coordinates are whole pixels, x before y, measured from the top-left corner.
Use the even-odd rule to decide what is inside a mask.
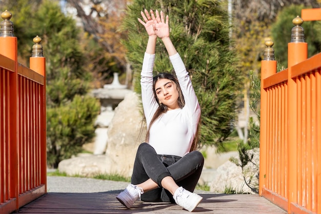
[[[162,10],[169,15],[171,40],[182,56],[202,108],[200,144],[222,146],[233,129],[237,94],[244,76],[236,69],[226,5],[217,0],[134,0],[129,5],[123,29],[129,35],[124,44],[138,93],[148,36],[137,17],[144,8]],[[159,40],[154,72],[173,72],[166,49]]]

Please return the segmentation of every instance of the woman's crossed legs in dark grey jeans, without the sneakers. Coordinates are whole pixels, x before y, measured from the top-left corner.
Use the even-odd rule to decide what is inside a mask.
[[[192,151],[166,167],[154,148],[142,143],[136,153],[131,183],[144,190],[143,201],[174,202],[172,196],[179,186],[194,191],[203,165],[202,153]]]

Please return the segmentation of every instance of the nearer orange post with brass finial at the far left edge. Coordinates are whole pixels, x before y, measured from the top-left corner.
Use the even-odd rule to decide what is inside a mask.
[[[0,53],[15,61],[15,71],[9,74],[9,150],[10,150],[10,198],[16,199],[16,209],[18,209],[18,123],[17,123],[17,37],[13,33],[13,23],[10,21],[12,14],[6,10],[1,14],[4,21],[0,24]]]

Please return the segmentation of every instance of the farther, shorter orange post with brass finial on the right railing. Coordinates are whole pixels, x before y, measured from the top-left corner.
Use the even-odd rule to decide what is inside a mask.
[[[260,97],[260,151],[259,151],[259,195],[262,196],[262,188],[266,185],[267,165],[267,91],[263,81],[276,73],[276,61],[272,41],[265,42],[264,60],[261,62],[261,97]]]

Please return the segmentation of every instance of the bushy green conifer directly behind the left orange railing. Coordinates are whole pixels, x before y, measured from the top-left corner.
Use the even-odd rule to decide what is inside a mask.
[[[86,43],[81,42],[82,31],[75,20],[65,16],[56,3],[15,0],[15,4],[9,10],[20,62],[28,64],[33,37],[42,37],[46,57],[47,164],[57,167],[60,161],[81,152],[82,145],[94,137],[99,104],[87,95],[92,79],[85,64]]]

